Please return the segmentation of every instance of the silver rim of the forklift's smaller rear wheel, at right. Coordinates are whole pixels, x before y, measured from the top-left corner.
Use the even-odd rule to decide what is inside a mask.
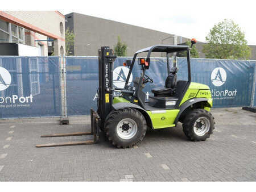
[[[210,121],[209,119],[202,116],[196,120],[193,128],[196,135],[203,136],[210,130]]]

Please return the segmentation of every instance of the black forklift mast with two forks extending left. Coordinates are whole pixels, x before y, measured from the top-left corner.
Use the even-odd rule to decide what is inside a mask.
[[[113,62],[117,56],[113,55],[113,50],[109,47],[101,47],[98,50],[98,110],[90,110],[90,132],[57,133],[52,135],[42,135],[41,137],[67,137],[93,135],[93,140],[69,141],[65,143],[48,143],[36,145],[36,147],[58,147],[69,145],[89,145],[96,144],[99,140],[98,128],[104,128],[106,116],[112,110],[112,88],[113,88]]]

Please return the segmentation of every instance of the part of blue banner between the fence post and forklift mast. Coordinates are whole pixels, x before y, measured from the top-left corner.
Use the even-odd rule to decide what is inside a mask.
[[[67,114],[86,115],[97,108],[98,57],[65,57]]]

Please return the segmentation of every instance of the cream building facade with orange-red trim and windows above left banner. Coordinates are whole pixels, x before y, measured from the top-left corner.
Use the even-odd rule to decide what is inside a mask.
[[[0,43],[39,47],[41,56],[65,55],[65,16],[59,11],[0,11]]]

